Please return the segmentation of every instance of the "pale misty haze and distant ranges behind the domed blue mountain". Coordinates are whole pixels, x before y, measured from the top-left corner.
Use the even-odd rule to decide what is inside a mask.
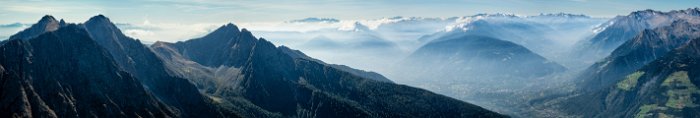
[[[448,18],[397,16],[339,22],[289,21],[283,24],[296,26],[297,29],[326,28],[261,30],[258,33],[270,38],[272,42],[299,49],[324,61],[385,75],[391,75],[390,72],[393,71],[387,67],[397,64],[431,40],[446,35],[459,37],[465,34],[488,35],[511,41],[566,67],[575,65],[579,68],[583,66],[568,61],[568,56],[562,55],[567,53],[573,42],[583,40],[593,33],[591,29],[594,26],[606,20],[566,13],[534,16],[477,14]]]

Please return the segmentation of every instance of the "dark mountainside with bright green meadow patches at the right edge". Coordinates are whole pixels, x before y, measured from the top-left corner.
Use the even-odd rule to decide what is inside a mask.
[[[699,13],[698,8],[634,12],[676,17],[626,40],[583,71],[574,82],[577,90],[550,107],[579,117],[697,116]]]

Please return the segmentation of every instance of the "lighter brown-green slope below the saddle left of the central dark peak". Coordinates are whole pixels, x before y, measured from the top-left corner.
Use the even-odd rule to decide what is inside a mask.
[[[239,90],[239,84],[244,75],[241,68],[230,66],[208,67],[189,60],[181,55],[172,43],[156,42],[151,45],[153,51],[165,62],[169,73],[187,78],[203,93],[214,100],[224,113],[232,113],[242,117],[280,117],[279,113],[273,113],[262,109],[238,96],[229,96],[232,91]]]

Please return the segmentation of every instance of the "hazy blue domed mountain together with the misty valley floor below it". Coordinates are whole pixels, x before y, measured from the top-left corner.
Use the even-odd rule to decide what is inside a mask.
[[[395,81],[517,117],[528,117],[511,104],[518,91],[566,71],[524,46],[476,34],[433,40],[394,68]]]

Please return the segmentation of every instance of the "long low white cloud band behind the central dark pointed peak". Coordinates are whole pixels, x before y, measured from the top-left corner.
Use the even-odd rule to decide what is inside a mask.
[[[370,20],[341,20],[339,22],[245,22],[234,23],[239,28],[246,28],[253,33],[256,32],[309,32],[324,29],[342,29],[343,27],[354,27],[355,23],[376,29],[380,25],[394,23],[401,20],[411,20],[409,18],[382,18]],[[183,41],[197,38],[208,34],[216,28],[226,23],[160,23],[151,22],[148,19],[139,24],[120,24],[117,26],[128,36],[146,41]],[[273,39],[274,40],[274,39]]]

